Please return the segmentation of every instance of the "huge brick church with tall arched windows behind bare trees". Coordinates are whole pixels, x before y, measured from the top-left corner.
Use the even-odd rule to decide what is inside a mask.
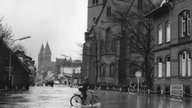
[[[131,6],[130,0],[88,0],[88,25],[83,46],[82,76],[88,77],[91,83],[119,84],[120,28],[111,21],[115,12],[126,14]],[[150,0],[135,0],[131,11],[142,10]],[[129,40],[127,40],[129,42]],[[139,69],[130,62],[138,58],[130,52],[126,44],[125,84],[136,81],[135,72]]]

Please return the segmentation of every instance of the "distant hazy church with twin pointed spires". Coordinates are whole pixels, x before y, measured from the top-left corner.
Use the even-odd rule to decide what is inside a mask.
[[[37,74],[39,75],[39,78],[40,78],[39,80],[43,81],[47,79],[46,77],[50,77],[50,76],[47,76],[48,73],[50,75],[50,72],[53,73],[52,75],[55,74],[55,62],[51,61],[51,55],[52,55],[51,49],[47,42],[45,48],[43,45],[41,46],[41,49],[38,55],[38,73]]]

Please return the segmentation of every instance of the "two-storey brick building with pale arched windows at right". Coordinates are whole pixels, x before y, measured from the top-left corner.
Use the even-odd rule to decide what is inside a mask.
[[[167,0],[148,14],[155,23],[155,90],[182,84],[192,93],[191,5],[191,0]]]

